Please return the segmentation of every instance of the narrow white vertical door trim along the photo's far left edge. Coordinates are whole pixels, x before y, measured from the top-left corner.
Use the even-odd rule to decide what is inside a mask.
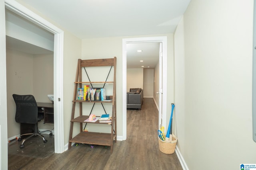
[[[0,0],[0,169],[8,169],[5,5]]]

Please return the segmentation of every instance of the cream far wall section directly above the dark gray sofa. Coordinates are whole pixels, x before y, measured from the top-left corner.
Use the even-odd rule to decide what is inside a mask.
[[[126,91],[130,88],[143,89],[143,68],[127,68],[126,70]]]

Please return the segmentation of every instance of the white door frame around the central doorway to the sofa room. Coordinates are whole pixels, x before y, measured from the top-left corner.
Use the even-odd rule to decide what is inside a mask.
[[[166,109],[167,109],[167,37],[137,37],[122,39],[122,140],[126,140],[127,124],[126,124],[126,44],[128,43],[162,43],[162,125],[166,125]],[[160,87],[159,87],[160,88]],[[160,113],[159,113],[160,114]]]

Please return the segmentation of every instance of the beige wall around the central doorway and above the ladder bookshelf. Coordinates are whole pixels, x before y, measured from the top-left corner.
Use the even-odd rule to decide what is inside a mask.
[[[173,103],[173,35],[144,35],[136,37],[154,37],[166,36],[167,37],[167,103]],[[82,59],[97,59],[97,58],[112,58],[117,57],[117,70],[116,70],[116,100],[117,100],[117,135],[122,136],[122,39],[134,38],[131,37],[108,37],[108,38],[95,38],[95,39],[82,39]],[[167,108],[167,117],[170,117],[171,107]]]

